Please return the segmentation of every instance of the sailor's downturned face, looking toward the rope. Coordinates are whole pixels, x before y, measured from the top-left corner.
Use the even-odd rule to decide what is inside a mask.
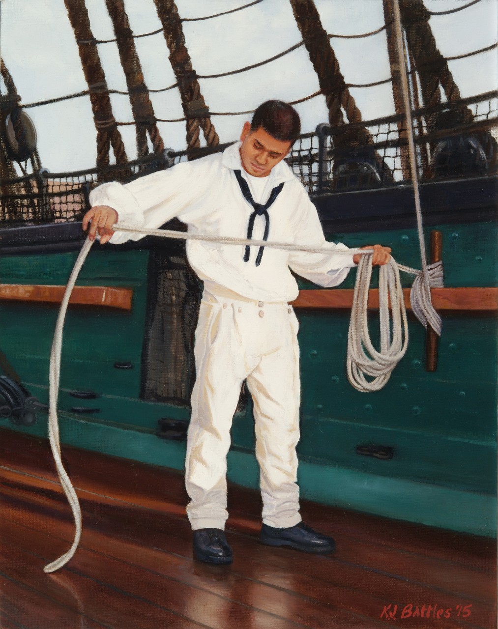
[[[253,177],[267,177],[271,169],[290,151],[292,142],[276,140],[263,127],[251,130],[246,122],[241,133],[241,162],[244,170]]]

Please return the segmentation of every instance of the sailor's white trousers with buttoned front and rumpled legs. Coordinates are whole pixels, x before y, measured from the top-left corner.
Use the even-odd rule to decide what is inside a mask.
[[[250,301],[222,287],[210,290],[204,291],[195,333],[185,462],[188,518],[193,530],[225,528],[230,428],[245,379],[254,402],[263,522],[294,526],[301,521],[297,318],[287,303]]]

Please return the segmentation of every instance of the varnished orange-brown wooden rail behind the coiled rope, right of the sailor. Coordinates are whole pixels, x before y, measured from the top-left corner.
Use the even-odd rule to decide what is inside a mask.
[[[410,306],[410,289],[403,289],[403,296],[407,310]],[[431,289],[433,306],[436,310],[446,311],[498,311],[497,287],[458,287]],[[378,308],[378,289],[370,289],[368,307]],[[344,308],[353,306],[353,289],[334,288],[300,291],[293,302],[295,308]]]

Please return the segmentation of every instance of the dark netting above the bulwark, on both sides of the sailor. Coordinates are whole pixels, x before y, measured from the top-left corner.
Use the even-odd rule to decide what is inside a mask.
[[[497,170],[497,92],[487,92],[437,108],[413,112],[417,176],[451,179],[494,174]],[[166,150],[127,164],[78,172],[35,174],[1,182],[0,220],[4,226],[78,221],[88,209],[89,192],[105,181],[132,181],[227,145],[190,152]],[[319,125],[300,136],[286,160],[308,192],[344,192],[396,186],[409,181],[408,144],[403,116]]]

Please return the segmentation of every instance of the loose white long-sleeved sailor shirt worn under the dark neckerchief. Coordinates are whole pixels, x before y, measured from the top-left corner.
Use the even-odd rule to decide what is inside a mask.
[[[244,262],[242,245],[188,240],[186,252],[191,267],[205,286],[222,286],[256,301],[296,299],[298,286],[291,270],[321,286],[340,284],[354,266],[353,254],[336,253],[348,247],[325,241],[317,210],[301,182],[283,161],[264,177],[266,185],[253,182],[262,178],[251,177],[243,169],[240,146],[240,142],[235,143],[223,153],[182,162],[128,184],[102,184],[91,192],[90,203],[114,208],[120,223],[137,230],[158,228],[177,217],[188,225],[188,233],[246,238],[254,210],[242,196],[234,170],[241,170],[257,203],[266,202],[271,190],[283,183],[283,189],[268,209],[268,240],[324,247],[326,253],[265,247],[261,264],[256,266],[259,247],[251,247],[249,260]],[[263,239],[264,221],[264,216],[256,217],[254,240]],[[118,244],[143,236],[116,231],[110,242]]]

